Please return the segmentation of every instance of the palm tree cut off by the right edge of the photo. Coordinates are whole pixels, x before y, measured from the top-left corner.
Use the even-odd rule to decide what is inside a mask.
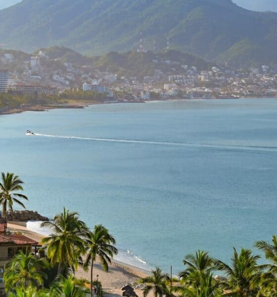
[[[266,296],[277,296],[277,236],[272,237],[272,244],[266,241],[258,241],[255,247],[261,249],[265,253],[265,257],[270,264],[263,265],[267,271],[262,277],[262,291],[266,292]]]

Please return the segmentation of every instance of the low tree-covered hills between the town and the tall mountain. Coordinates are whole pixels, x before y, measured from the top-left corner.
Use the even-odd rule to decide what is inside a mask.
[[[0,54],[12,53],[14,61],[2,64],[10,72],[19,71],[24,61],[29,61],[32,55],[44,51],[47,58],[43,64],[50,70],[64,69],[63,63],[72,63],[74,67],[81,68],[86,65],[103,72],[112,72],[118,76],[136,76],[142,79],[144,76],[153,76],[155,69],[161,70],[165,75],[182,74],[185,72],[182,66],[195,66],[199,71],[207,70],[210,63],[193,54],[178,50],[165,50],[163,52],[116,52],[111,51],[100,56],[85,56],[65,47],[50,47],[37,49],[32,54],[19,50],[0,49]],[[1,68],[1,63],[0,63]],[[91,69],[91,68],[90,68]],[[174,70],[175,69],[175,70]]]

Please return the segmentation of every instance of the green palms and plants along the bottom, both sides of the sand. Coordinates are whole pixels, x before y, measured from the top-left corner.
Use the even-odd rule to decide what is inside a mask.
[[[99,224],[90,231],[77,212],[66,208],[42,226],[52,231],[42,241],[46,245],[46,258],[28,250],[19,251],[5,266],[7,296],[85,297],[92,296],[92,289],[97,286],[97,296],[102,297],[102,286],[93,274],[93,267],[98,261],[107,272],[118,253],[109,230]],[[156,267],[139,280],[143,297],[150,294],[154,297],[277,297],[277,236],[273,236],[271,243],[258,241],[255,247],[264,252],[266,264],[260,264],[261,256],[252,250],[237,251],[233,247],[228,263],[203,250],[186,255],[185,269],[179,278],[171,279]],[[79,266],[90,270],[90,281],[75,277]],[[215,276],[215,272],[221,275]]]

